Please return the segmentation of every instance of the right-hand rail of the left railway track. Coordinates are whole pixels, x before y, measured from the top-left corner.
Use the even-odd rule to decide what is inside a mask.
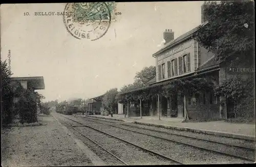
[[[62,115],[60,115],[60,116],[62,116]],[[96,131],[98,131],[98,132],[101,132],[101,133],[103,133],[103,134],[107,134],[107,135],[109,135],[109,136],[111,136],[111,137],[117,138],[117,139],[119,139],[119,140],[121,140],[121,141],[124,141],[124,142],[130,144],[130,145],[133,145],[133,146],[135,146],[135,147],[138,147],[138,148],[140,148],[140,149],[142,149],[142,150],[144,150],[144,151],[153,153],[153,154],[155,154],[155,155],[161,156],[161,157],[163,157],[163,158],[165,158],[165,159],[168,159],[168,160],[175,161],[175,162],[180,163],[180,164],[185,164],[185,163],[180,162],[180,161],[178,161],[178,160],[175,160],[175,159],[173,159],[173,158],[167,157],[167,156],[162,155],[162,154],[160,154],[160,153],[157,153],[157,152],[154,152],[154,151],[152,151],[152,150],[148,150],[148,149],[146,149],[146,148],[143,148],[143,147],[141,147],[141,146],[138,146],[138,145],[136,145],[136,144],[133,144],[133,143],[130,142],[130,141],[121,139],[121,138],[116,137],[116,136],[114,136],[114,135],[111,135],[111,134],[109,134],[109,133],[106,133],[106,132],[103,132],[103,131],[98,130],[98,129],[96,129],[96,128],[93,128],[93,127],[91,127],[91,126],[85,125],[85,124],[83,124],[83,123],[79,123],[79,122],[77,122],[77,121],[75,121],[75,120],[72,120],[71,118],[66,117],[66,116],[62,116],[62,117],[65,117],[65,118],[67,118],[68,120],[74,121],[74,122],[76,122],[76,123],[78,123],[78,124],[84,125],[85,127],[94,129],[94,130],[96,130]]]

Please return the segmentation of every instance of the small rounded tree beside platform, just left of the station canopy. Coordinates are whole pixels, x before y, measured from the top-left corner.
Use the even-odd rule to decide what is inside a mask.
[[[117,88],[106,91],[102,100],[102,106],[108,111],[113,110],[113,106],[117,103],[116,96],[118,94]]]

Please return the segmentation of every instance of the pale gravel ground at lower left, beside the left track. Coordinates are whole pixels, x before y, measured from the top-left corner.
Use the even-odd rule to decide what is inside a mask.
[[[3,166],[92,165],[53,116],[38,118],[47,125],[2,131]]]

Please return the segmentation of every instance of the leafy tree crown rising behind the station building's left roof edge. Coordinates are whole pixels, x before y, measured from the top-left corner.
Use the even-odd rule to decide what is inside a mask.
[[[135,83],[137,84],[145,84],[148,81],[152,80],[156,76],[156,67],[144,67],[140,72],[136,73],[135,76]]]

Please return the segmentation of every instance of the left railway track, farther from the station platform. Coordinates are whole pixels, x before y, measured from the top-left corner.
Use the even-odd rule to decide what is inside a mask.
[[[62,115],[60,115],[60,116],[62,116]],[[171,157],[167,157],[167,156],[165,156],[165,155],[159,154],[159,153],[154,152],[154,151],[152,151],[152,150],[148,150],[148,149],[146,149],[146,148],[144,148],[144,147],[141,147],[141,146],[138,146],[138,145],[136,145],[136,144],[133,144],[133,143],[130,142],[130,141],[124,140],[124,139],[122,139],[122,138],[116,137],[116,136],[111,135],[111,134],[109,134],[109,133],[106,133],[106,132],[103,132],[103,131],[98,130],[98,129],[96,129],[96,128],[93,128],[93,127],[91,127],[91,126],[88,126],[88,125],[86,125],[86,124],[83,124],[83,123],[80,123],[80,122],[78,122],[78,121],[75,121],[75,120],[73,120],[73,119],[71,119],[71,118],[69,118],[69,117],[66,117],[66,116],[62,116],[62,117],[66,118],[66,119],[68,119],[68,120],[70,120],[70,121],[73,121],[73,122],[75,122],[75,123],[77,123],[77,124],[80,124],[80,125],[83,126],[83,127],[87,127],[87,128],[93,129],[93,130],[95,130],[95,131],[98,131],[98,132],[100,132],[100,133],[103,133],[103,134],[105,134],[105,135],[108,135],[108,136],[111,136],[111,137],[113,137],[113,138],[116,138],[116,139],[118,139],[118,140],[120,140],[120,141],[125,142],[126,144],[135,146],[136,148],[139,148],[139,149],[141,149],[141,150],[143,150],[143,151],[145,151],[145,152],[154,154],[155,156],[161,157],[161,158],[166,159],[166,160],[168,160],[168,161],[175,162],[175,163],[173,163],[173,164],[185,164],[185,163],[180,162],[180,161],[178,161],[178,160],[175,160],[175,159],[173,159],[173,158],[171,158]],[[81,135],[83,135],[84,137],[90,139],[90,140],[91,140],[92,142],[94,142],[97,146],[101,147],[102,149],[104,149],[105,151],[107,151],[108,153],[110,153],[111,155],[113,155],[115,158],[118,158],[116,155],[114,155],[113,153],[109,152],[108,150],[106,150],[105,148],[103,148],[102,146],[100,146],[99,144],[97,144],[97,142],[93,141],[90,137],[88,137],[87,135],[84,135],[81,131],[79,131],[78,129],[76,129],[74,126],[72,126],[72,125],[70,125],[70,124],[68,124],[68,123],[66,123],[66,124],[69,125],[69,126],[71,126],[74,130],[76,130],[77,132],[79,132],[79,133],[80,133]],[[76,127],[79,127],[79,125],[75,125],[75,126],[76,126]],[[118,160],[122,161],[125,165],[130,165],[130,164],[127,164],[126,162],[124,162],[123,160],[121,160],[120,158],[118,158]]]

